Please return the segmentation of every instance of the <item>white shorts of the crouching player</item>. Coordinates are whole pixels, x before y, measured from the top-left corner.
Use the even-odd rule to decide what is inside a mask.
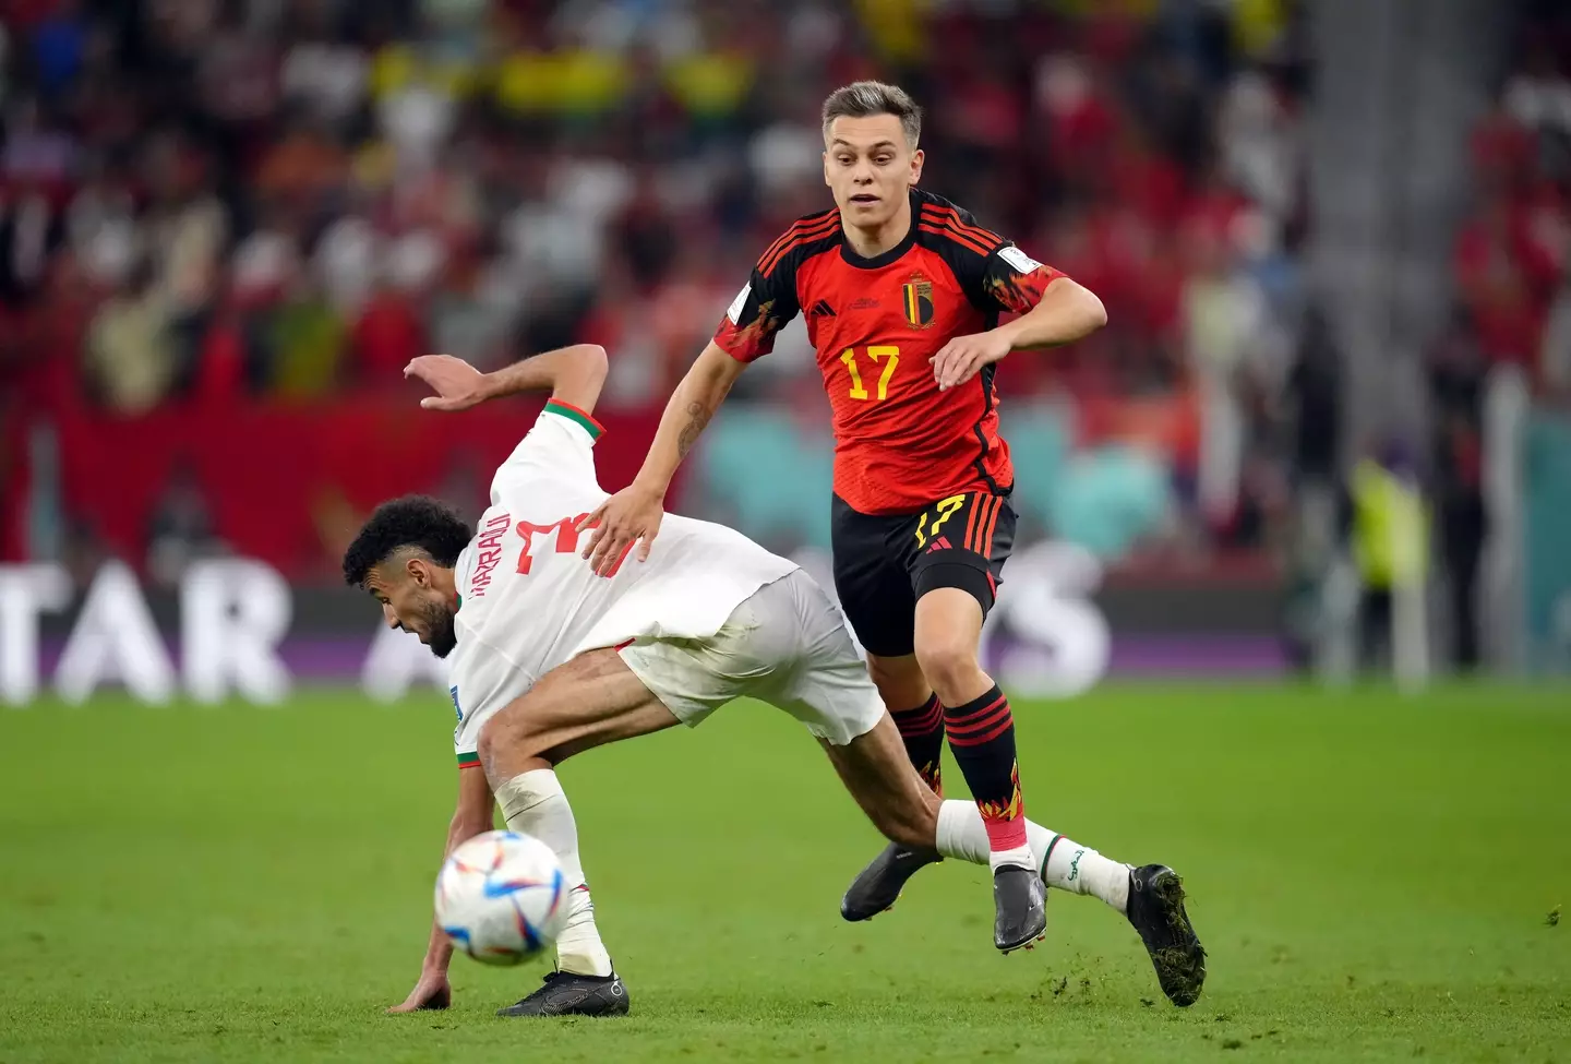
[[[757,698],[844,747],[884,714],[844,618],[800,569],[748,596],[707,640],[635,643],[621,654],[690,728],[734,698]]]

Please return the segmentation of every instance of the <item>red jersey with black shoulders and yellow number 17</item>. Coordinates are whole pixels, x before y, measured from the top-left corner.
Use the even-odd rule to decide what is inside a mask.
[[[905,514],[961,492],[1013,487],[998,434],[994,366],[939,391],[932,358],[955,336],[1037,305],[1057,270],[911,190],[911,231],[875,258],[851,250],[839,209],[812,214],[764,253],[715,332],[742,361],[768,354],[798,313],[834,415],[834,493],[862,514]]]

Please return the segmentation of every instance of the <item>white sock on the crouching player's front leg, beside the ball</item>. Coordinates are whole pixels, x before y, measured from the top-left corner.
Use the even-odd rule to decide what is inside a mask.
[[[567,794],[550,769],[536,769],[496,787],[496,803],[507,827],[533,835],[556,853],[567,877],[567,926],[556,938],[556,967],[581,976],[611,974],[611,956],[594,926],[594,902],[578,860],[578,824]]]

